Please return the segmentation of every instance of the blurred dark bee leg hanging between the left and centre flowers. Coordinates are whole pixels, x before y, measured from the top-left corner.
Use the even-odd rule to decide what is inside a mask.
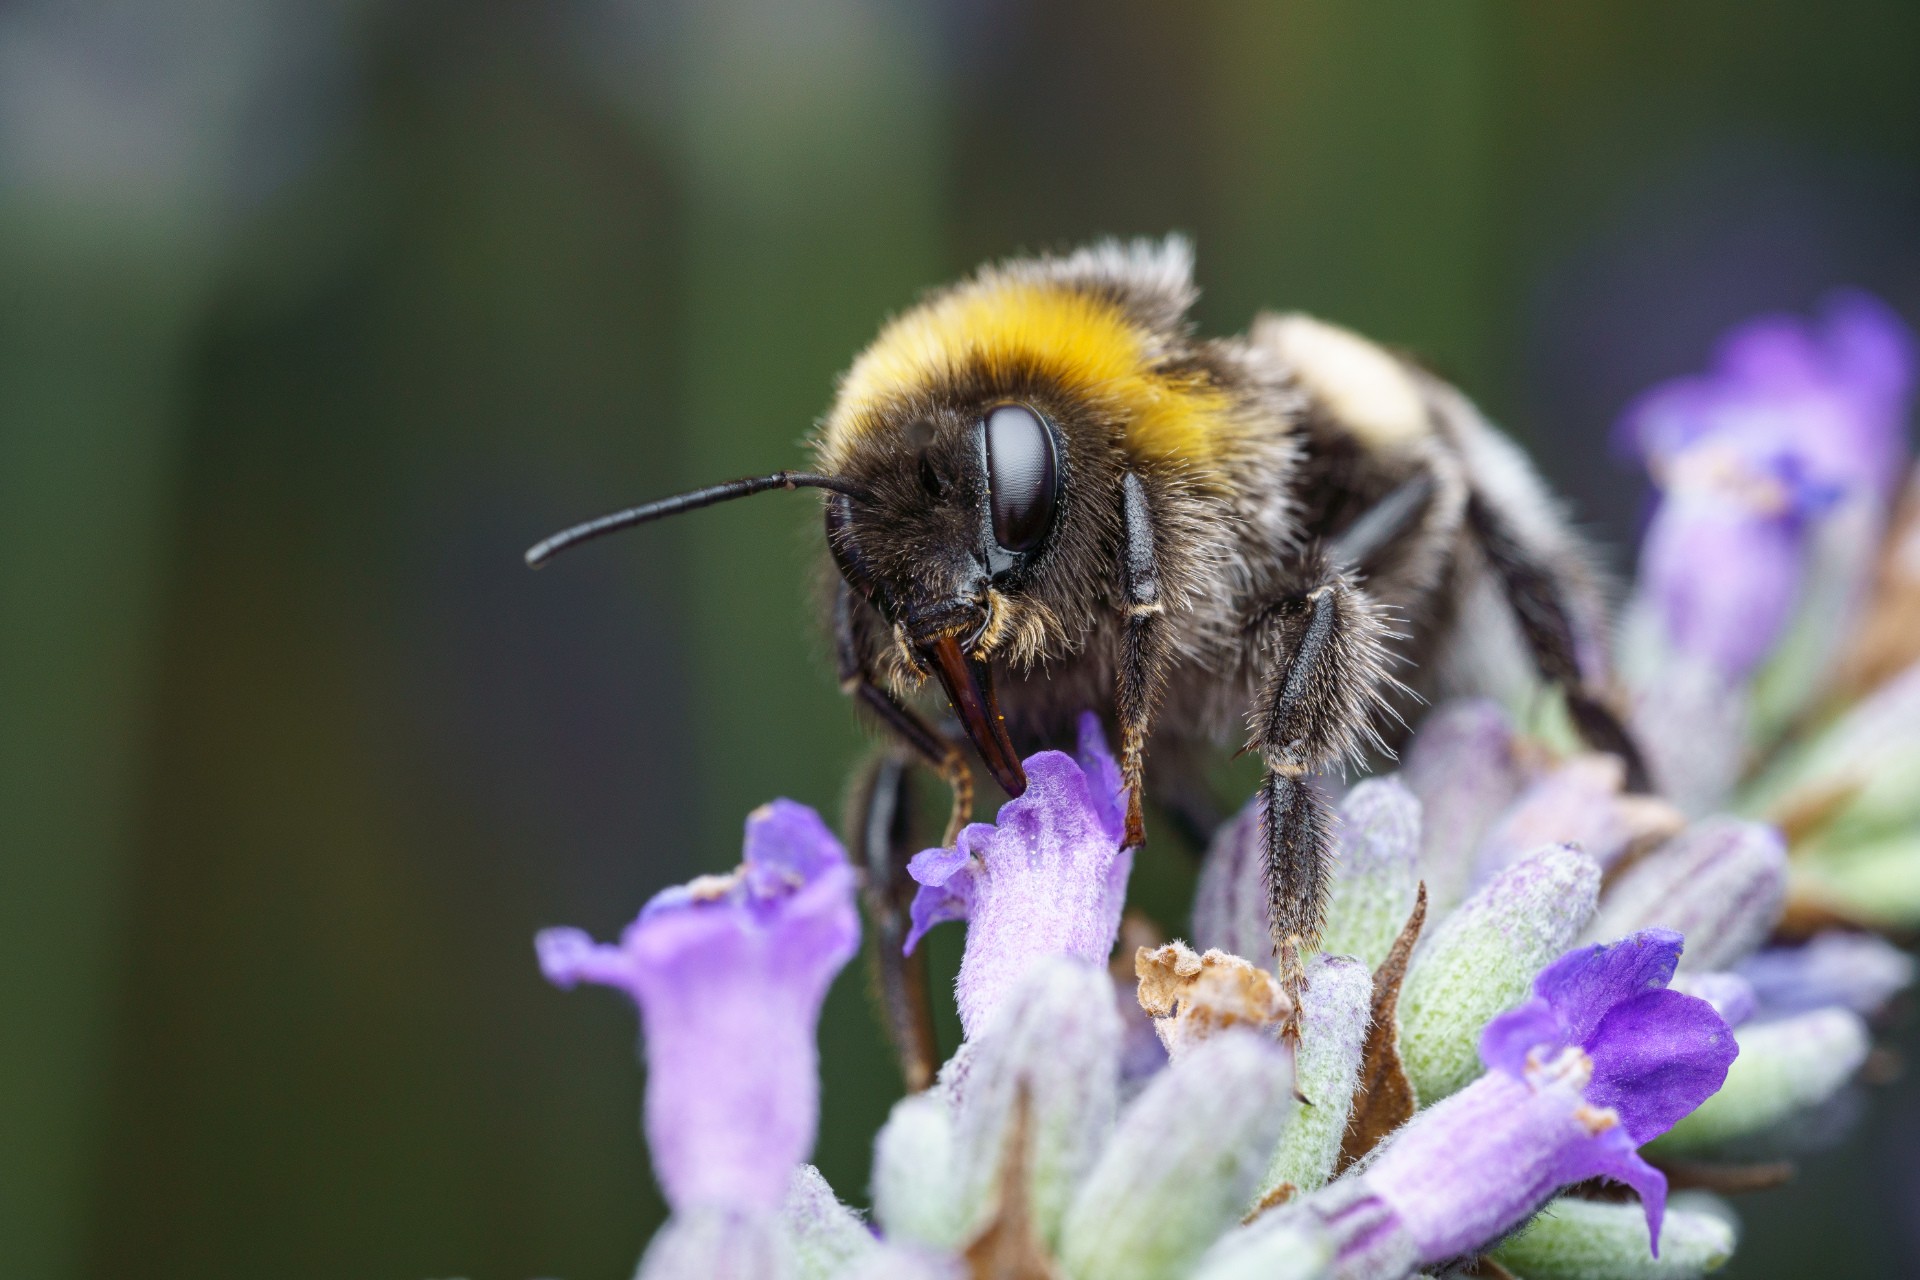
[[[854,779],[847,806],[847,844],[864,871],[860,896],[872,921],[874,994],[887,1019],[887,1038],[900,1059],[906,1090],[918,1094],[939,1071],[933,1007],[927,998],[925,952],[906,954],[912,925],[914,768],[897,745],[881,747]]]

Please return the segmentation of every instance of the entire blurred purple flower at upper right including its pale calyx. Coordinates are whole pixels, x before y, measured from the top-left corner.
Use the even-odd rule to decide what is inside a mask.
[[[1661,489],[1624,666],[1655,770],[1690,812],[1720,804],[1747,741],[1832,674],[1903,466],[1912,363],[1899,317],[1836,294],[1812,324],[1734,330],[1711,374],[1655,388],[1620,424]]]

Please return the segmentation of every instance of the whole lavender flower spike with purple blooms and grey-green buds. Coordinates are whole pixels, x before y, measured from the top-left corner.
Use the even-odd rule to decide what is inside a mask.
[[[1131,854],[1092,716],[1075,756],[1027,760],[995,823],[912,862],[906,946],[968,923],[966,1038],[879,1132],[874,1224],[799,1163],[814,1021],[858,936],[818,818],[760,810],[739,871],[660,894],[620,946],[541,935],[549,977],[641,1006],[674,1207],[643,1278],[1407,1280],[1486,1249],[1530,1280],[1720,1265],[1728,1211],[1668,1219],[1642,1148],[1778,1140],[1847,1084],[1864,1015],[1912,981],[1859,933],[1757,950],[1786,902],[1920,923],[1920,668],[1832,679],[1903,466],[1910,345],[1884,307],[1836,296],[1812,324],[1741,328],[1711,374],[1630,411],[1661,507],[1622,668],[1667,798],[1557,752],[1549,720],[1536,739],[1492,702],[1436,708],[1402,779],[1340,804],[1298,1044],[1273,1032],[1254,806],[1200,875],[1194,936],[1217,950],[1123,956],[1140,981],[1121,1017]],[[1749,758],[1764,777],[1741,777]],[[1140,1009],[1171,1054],[1148,1040],[1123,1071]],[[1590,1178],[1640,1205],[1561,1194]]]

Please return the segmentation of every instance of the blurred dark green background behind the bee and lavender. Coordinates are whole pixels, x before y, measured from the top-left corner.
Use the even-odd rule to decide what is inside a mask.
[[[1916,67],[1910,0],[0,8],[0,1272],[630,1274],[634,1015],[532,933],[862,735],[812,501],[518,557],[795,462],[918,290],[1187,230],[1206,326],[1415,347],[1620,549],[1638,388],[1920,317]],[[824,1040],[858,1194],[858,971]],[[1920,1272],[1920,1092],[1860,1105],[1730,1274]]]

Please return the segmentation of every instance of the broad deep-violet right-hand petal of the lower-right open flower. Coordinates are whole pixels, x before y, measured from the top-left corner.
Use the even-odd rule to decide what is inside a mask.
[[[1705,1000],[1649,990],[1601,1019],[1588,1054],[1594,1080],[1586,1100],[1613,1107],[1634,1144],[1642,1144],[1718,1092],[1740,1046]]]

